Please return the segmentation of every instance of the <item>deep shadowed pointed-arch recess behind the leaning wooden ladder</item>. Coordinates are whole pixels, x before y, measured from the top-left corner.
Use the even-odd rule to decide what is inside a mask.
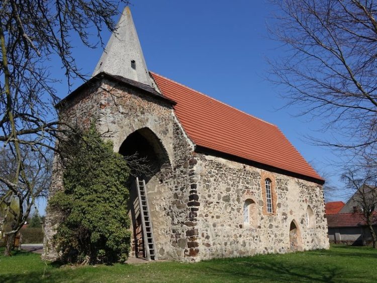
[[[148,195],[148,191],[154,191],[154,187],[162,181],[160,172],[163,168],[169,167],[169,158],[161,141],[149,128],[142,128],[130,134],[122,143],[119,153],[128,157],[131,169],[129,179],[129,215],[132,220],[133,232],[131,255],[146,257],[142,234],[142,212],[140,211],[135,179],[139,177],[145,180]],[[152,203],[149,202],[149,206],[151,205]],[[151,218],[153,220],[153,215]],[[153,226],[154,230],[157,228]]]

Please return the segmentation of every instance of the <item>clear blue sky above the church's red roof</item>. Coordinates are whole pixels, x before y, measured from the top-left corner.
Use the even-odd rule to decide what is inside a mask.
[[[134,0],[130,7],[149,70],[277,125],[306,160],[342,186],[338,157],[304,138],[324,137],[316,132],[320,122],[294,117],[299,112],[294,107],[279,110],[288,101],[279,97],[282,89],[265,79],[266,57],[282,52],[268,39],[266,22],[271,23],[268,16],[273,9],[268,2]],[[103,38],[107,42],[110,33],[103,32]],[[84,48],[77,40],[73,46],[77,65],[90,75],[102,49]],[[52,72],[59,74],[59,68]],[[67,87],[64,83],[56,87],[64,98]],[[344,196],[329,200],[344,201]]]

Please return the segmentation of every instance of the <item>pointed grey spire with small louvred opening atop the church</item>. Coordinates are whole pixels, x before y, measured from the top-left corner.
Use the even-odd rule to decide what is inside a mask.
[[[102,71],[153,86],[128,7],[123,10],[117,30],[111,35],[92,75]]]

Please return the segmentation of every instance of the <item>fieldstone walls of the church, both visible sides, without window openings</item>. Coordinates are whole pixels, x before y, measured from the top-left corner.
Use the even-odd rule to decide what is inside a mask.
[[[164,101],[104,78],[71,98],[61,119],[80,125],[95,119],[117,152],[135,131],[147,128],[154,133],[154,142],[166,155],[166,162],[146,184],[159,259],[199,261],[288,252],[292,221],[300,231],[301,249],[328,248],[321,185],[196,153],[172,106]],[[61,171],[56,162],[54,166],[51,195],[62,190]],[[266,176],[272,181],[272,214],[265,211]],[[253,223],[245,225],[246,200],[253,202],[255,214]],[[316,215],[312,228],[306,223],[308,205]],[[48,243],[58,223],[58,213],[48,209]],[[56,258],[52,246],[45,257]]]

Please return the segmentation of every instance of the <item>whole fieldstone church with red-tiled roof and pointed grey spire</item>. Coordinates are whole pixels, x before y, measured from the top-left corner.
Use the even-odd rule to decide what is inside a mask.
[[[148,71],[128,8],[59,114],[96,120],[116,152],[153,166],[131,187],[130,256],[200,261],[329,247],[324,179],[275,125]],[[48,209],[47,239],[57,219]],[[56,257],[51,244],[45,256]]]

